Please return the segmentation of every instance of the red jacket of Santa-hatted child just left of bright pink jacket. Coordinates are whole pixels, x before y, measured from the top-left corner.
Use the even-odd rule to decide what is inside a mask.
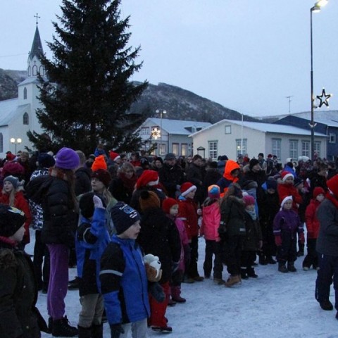
[[[187,231],[189,241],[199,235],[199,216],[197,204],[192,199],[180,199],[178,203],[178,218],[180,218]]]

